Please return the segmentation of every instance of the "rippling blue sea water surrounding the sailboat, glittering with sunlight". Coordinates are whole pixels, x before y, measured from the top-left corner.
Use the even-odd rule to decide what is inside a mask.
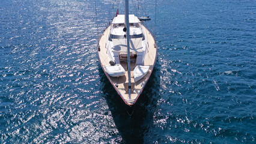
[[[255,143],[256,2],[136,4],[158,58],[129,116],[96,54],[117,1],[0,1],[0,143]]]

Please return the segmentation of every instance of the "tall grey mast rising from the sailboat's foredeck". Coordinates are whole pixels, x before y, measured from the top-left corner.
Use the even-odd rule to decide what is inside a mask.
[[[127,65],[128,65],[128,80],[129,80],[129,99],[131,93],[131,82],[130,82],[130,27],[129,27],[129,1],[125,0],[125,20],[126,20],[126,40],[127,40]]]

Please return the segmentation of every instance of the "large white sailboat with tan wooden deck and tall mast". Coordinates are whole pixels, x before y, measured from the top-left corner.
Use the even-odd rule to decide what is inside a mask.
[[[153,35],[134,14],[117,14],[99,39],[97,53],[103,71],[124,103],[132,106],[141,95],[156,63]]]

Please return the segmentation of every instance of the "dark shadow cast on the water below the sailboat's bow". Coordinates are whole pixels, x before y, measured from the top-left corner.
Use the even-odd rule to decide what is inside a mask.
[[[102,92],[111,110],[115,125],[122,137],[121,143],[144,143],[150,140],[150,128],[153,127],[153,115],[156,111],[157,100],[160,99],[160,70],[156,62],[154,70],[140,95],[132,107],[124,104],[120,95],[112,87],[101,67],[100,81],[103,83]],[[146,138],[147,137],[147,138]]]

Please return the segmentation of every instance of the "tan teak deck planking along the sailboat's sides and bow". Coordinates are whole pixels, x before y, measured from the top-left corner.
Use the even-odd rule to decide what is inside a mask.
[[[148,53],[145,55],[143,65],[149,65],[150,70],[141,80],[139,80],[138,82],[135,83],[135,80],[133,79],[133,70],[136,67],[136,64],[135,64],[135,62],[130,63],[130,70],[131,70],[130,74],[131,74],[131,83],[132,83],[132,93],[130,95],[130,98],[129,98],[129,92],[128,92],[127,86],[125,86],[127,84],[124,84],[124,83],[128,83],[127,62],[121,62],[121,65],[123,66],[124,70],[126,70],[125,76],[111,77],[106,73],[105,68],[104,68],[105,65],[110,65],[109,61],[111,61],[111,59],[109,58],[109,55],[107,53],[107,47],[106,47],[106,41],[109,36],[108,34],[111,29],[111,26],[108,26],[108,28],[105,29],[102,36],[100,37],[100,40],[99,40],[99,49],[100,50],[99,49],[97,50],[98,56],[99,56],[99,61],[100,61],[100,64],[102,65],[103,71],[105,72],[105,74],[108,77],[109,81],[111,82],[112,86],[114,86],[115,90],[118,92],[118,94],[123,99],[124,103],[126,103],[127,105],[133,105],[136,103],[136,101],[139,98],[139,95],[141,94],[148,79],[150,78],[150,75],[154,68],[154,64],[156,62],[157,46],[156,46],[154,37],[153,37],[153,35],[151,35],[150,31],[148,31],[148,29],[145,28],[145,26],[142,25],[141,28],[143,29],[144,34],[145,34],[144,36],[145,36],[145,38],[147,38],[147,41],[148,41],[148,43],[147,43]],[[118,86],[116,86],[116,85],[118,85]],[[133,88],[133,86],[134,86],[134,88]]]

